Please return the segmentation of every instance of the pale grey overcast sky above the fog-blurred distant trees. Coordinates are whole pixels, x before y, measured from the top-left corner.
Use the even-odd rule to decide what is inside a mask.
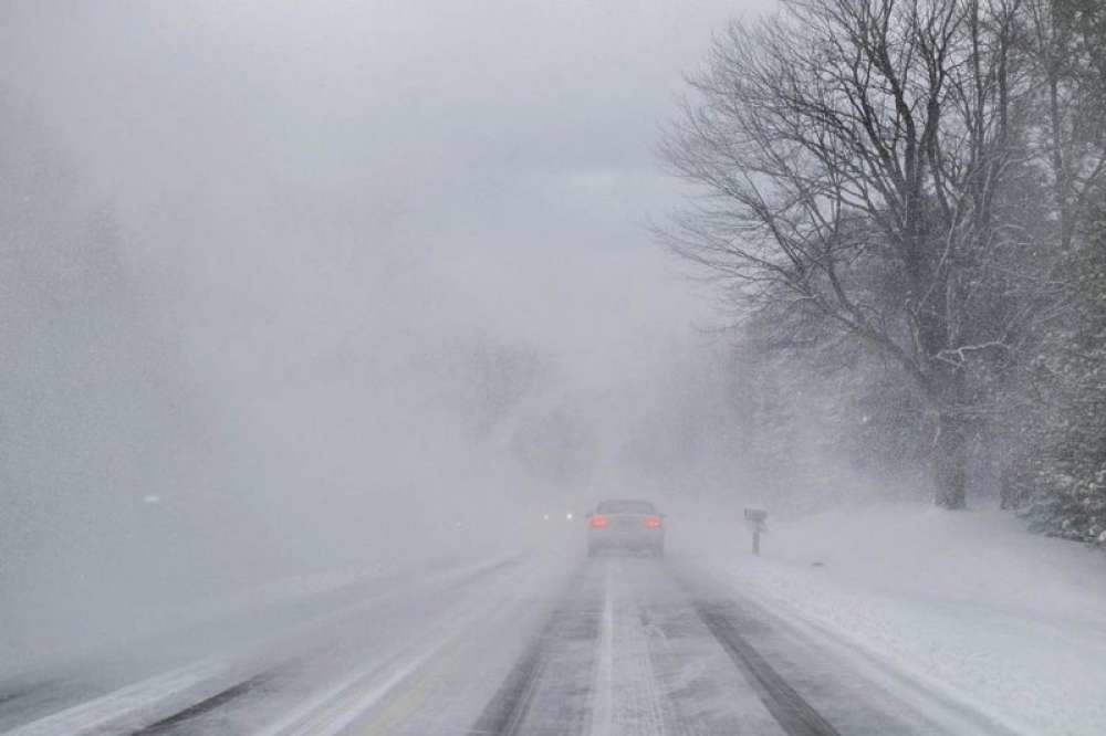
[[[605,390],[700,339],[646,231],[679,197],[658,129],[771,4],[6,2],[0,84],[118,213],[200,380],[476,330]]]

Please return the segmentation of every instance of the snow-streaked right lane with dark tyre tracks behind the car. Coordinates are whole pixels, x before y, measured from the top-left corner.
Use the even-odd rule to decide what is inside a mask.
[[[437,690],[403,677],[385,701],[354,706],[356,718],[335,715],[348,726],[340,733],[1006,734],[987,719],[929,717],[933,698],[910,703],[865,680],[802,632],[760,618],[679,567],[617,557],[581,562],[511,656],[497,646],[503,619],[493,617],[489,628],[466,631],[467,654],[420,664],[436,669]],[[518,618],[510,606],[497,608]],[[436,707],[444,691],[472,681],[482,691]],[[950,723],[951,730],[942,727]]]

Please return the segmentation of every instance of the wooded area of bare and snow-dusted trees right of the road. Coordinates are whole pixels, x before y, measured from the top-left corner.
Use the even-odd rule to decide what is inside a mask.
[[[688,81],[661,235],[737,315],[747,388],[838,376],[864,467],[1106,543],[1106,8],[792,0]]]

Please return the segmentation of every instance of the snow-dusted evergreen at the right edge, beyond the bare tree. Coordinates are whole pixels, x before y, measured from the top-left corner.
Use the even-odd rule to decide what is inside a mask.
[[[1064,298],[1001,391],[1003,503],[1047,534],[1106,544],[1106,8],[1025,10],[1037,81],[1029,150],[1050,185],[1037,240],[1058,256],[1050,282]]]

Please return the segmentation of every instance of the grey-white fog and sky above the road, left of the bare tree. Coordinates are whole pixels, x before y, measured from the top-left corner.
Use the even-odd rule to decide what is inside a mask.
[[[763,4],[4,3],[3,659],[732,484],[648,225]]]

